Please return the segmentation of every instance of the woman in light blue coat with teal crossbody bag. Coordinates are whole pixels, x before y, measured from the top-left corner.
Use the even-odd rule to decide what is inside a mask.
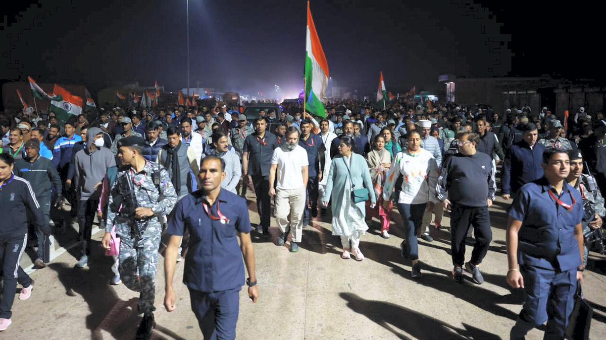
[[[353,152],[354,147],[351,137],[341,138],[339,155],[333,159],[330,165],[322,203],[324,206],[328,206],[328,201],[332,201],[333,235],[341,237],[343,246],[341,257],[344,259],[351,258],[351,253],[356,260],[362,261],[364,255],[362,255],[359,245],[360,237],[368,229],[364,220],[366,202],[354,203],[351,200],[351,192],[354,189],[367,188],[371,208],[375,208],[376,196],[366,160],[362,155]]]

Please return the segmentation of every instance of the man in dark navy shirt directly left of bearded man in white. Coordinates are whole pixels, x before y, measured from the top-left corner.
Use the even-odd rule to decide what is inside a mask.
[[[278,140],[272,133],[267,133],[267,120],[264,117],[255,119],[255,133],[246,137],[242,149],[242,175],[244,184],[252,182],[257,196],[257,212],[261,219],[260,228],[264,237],[269,236],[271,203],[269,197],[269,169],[273,149],[278,148]]]

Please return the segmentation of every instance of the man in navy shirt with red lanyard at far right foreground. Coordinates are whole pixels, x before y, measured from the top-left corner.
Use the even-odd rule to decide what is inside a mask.
[[[548,149],[542,166],[544,177],[522,186],[509,211],[507,283],[525,292],[511,339],[545,321],[545,339],[563,339],[576,281],[582,283],[584,213],[581,194],[565,181],[568,154]]]

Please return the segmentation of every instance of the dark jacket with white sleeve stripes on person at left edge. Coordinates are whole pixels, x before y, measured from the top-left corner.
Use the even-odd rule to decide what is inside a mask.
[[[42,209],[30,182],[12,175],[0,186],[0,240],[10,240],[27,234],[27,225],[30,222],[28,216],[45,235],[50,235],[48,221],[44,221]]]

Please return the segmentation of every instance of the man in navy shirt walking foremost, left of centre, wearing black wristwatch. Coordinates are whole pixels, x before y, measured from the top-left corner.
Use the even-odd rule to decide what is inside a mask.
[[[205,315],[215,315],[215,334],[204,334],[204,338],[235,339],[239,292],[244,285],[240,253],[248,271],[248,296],[255,303],[259,298],[248,207],[244,198],[221,189],[224,160],[208,155],[200,169],[202,188],[182,198],[168,221],[167,232],[171,237],[164,255],[164,306],[168,312],[176,308],[173,276],[179,244],[187,229],[190,250],[185,256],[183,283],[190,291],[191,309],[202,333],[205,333],[202,322]]]

